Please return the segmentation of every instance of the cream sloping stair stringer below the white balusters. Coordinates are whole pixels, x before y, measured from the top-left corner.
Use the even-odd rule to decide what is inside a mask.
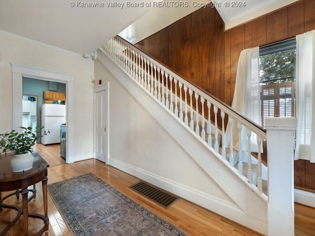
[[[162,104],[148,91],[141,88],[114,61],[103,52],[98,59],[130,92],[130,94],[164,127],[164,129],[186,150],[200,168],[220,186],[222,191],[235,203],[198,202],[189,193],[180,196],[202,207],[208,208],[226,218],[249,227],[262,234],[267,234],[267,199],[253,191],[252,185],[228,161],[216,154],[200,137],[188,129],[174,114],[167,111]],[[109,162],[109,164],[111,164]],[[133,175],[136,176],[135,173]]]

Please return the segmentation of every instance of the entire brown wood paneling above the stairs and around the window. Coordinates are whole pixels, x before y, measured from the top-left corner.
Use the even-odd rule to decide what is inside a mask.
[[[240,52],[315,29],[315,0],[300,0],[224,31],[216,9],[201,8],[137,43],[191,83],[231,105]],[[315,164],[295,161],[295,185],[315,190]]]

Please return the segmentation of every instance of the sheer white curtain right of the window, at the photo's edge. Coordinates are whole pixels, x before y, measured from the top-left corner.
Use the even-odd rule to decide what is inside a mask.
[[[315,30],[296,36],[296,117],[294,159],[315,163]]]

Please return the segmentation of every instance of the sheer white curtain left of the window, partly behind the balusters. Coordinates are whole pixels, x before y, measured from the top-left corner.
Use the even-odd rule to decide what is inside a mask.
[[[258,125],[261,125],[260,81],[259,81],[259,47],[244,49],[238,60],[232,108],[242,113]],[[227,134],[229,132],[227,127]],[[239,149],[239,131],[237,122],[233,122],[233,146]],[[228,137],[227,137],[228,138]],[[242,150],[248,150],[246,128],[242,127]],[[258,152],[256,135],[251,135],[251,151]],[[261,148],[262,152],[262,148]]]

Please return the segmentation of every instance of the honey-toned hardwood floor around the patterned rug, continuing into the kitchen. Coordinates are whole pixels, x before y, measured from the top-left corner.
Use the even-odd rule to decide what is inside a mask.
[[[60,157],[60,146],[49,145],[42,147],[36,145],[36,150],[50,164],[48,168],[48,184],[63,179],[76,177],[86,173],[94,173],[104,179],[120,191],[141,205],[154,211],[167,221],[176,225],[191,236],[258,236],[260,234],[236,224],[220,215],[213,213],[203,207],[196,206],[188,201],[180,199],[168,209],[164,209],[155,203],[147,200],[141,195],[130,190],[128,186],[137,182],[139,179],[110,167],[98,160],[89,159],[72,164],[65,164]],[[43,213],[41,184],[36,184],[37,198],[29,204],[29,211]],[[80,193],[78,193],[80,194]],[[2,196],[5,196],[3,193]],[[20,198],[21,199],[21,198]],[[11,197],[8,204],[16,204],[16,198]],[[20,204],[20,203],[19,203]],[[49,231],[42,236],[70,236],[58,209],[48,194],[48,216]],[[8,224],[9,219],[15,217],[15,211],[3,209],[0,212],[0,231]],[[39,220],[29,220],[29,235],[33,235],[41,225]],[[6,234],[6,236],[22,236],[23,220],[21,219]],[[315,236],[315,209],[311,207],[295,204],[295,235],[296,236]]]

